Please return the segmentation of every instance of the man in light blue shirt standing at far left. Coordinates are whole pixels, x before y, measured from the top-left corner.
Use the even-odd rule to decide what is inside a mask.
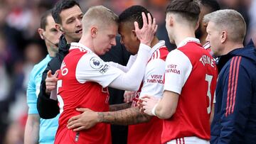
[[[41,17],[41,28],[38,28],[38,33],[46,43],[48,55],[31,71],[28,89],[27,89],[27,104],[28,104],[28,119],[26,121],[24,143],[33,144],[50,144],[53,143],[55,133],[58,128],[58,118],[43,119],[38,115],[36,109],[36,99],[40,89],[43,70],[46,69],[48,62],[55,57],[58,52],[58,42],[60,32],[55,28],[55,22],[51,15],[51,10],[43,13]]]

